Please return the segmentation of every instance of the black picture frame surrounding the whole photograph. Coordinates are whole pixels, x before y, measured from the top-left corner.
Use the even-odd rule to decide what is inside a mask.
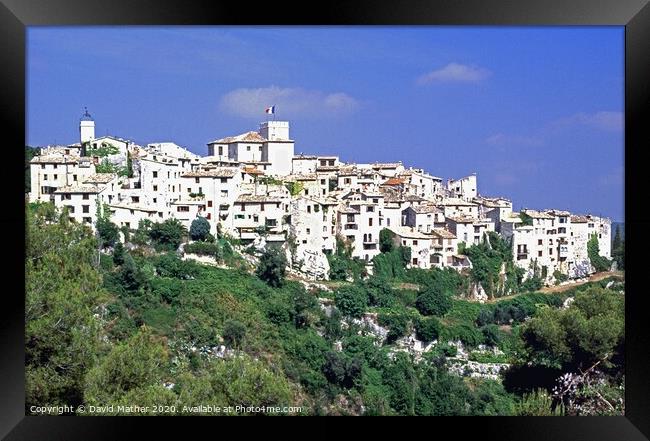
[[[289,13],[291,11],[291,13]],[[440,425],[455,438],[641,440],[650,437],[650,381],[645,377],[650,354],[642,272],[647,254],[650,215],[643,190],[646,172],[643,148],[650,147],[650,5],[647,0],[445,0],[308,2],[250,5],[244,2],[179,0],[2,0],[0,4],[0,76],[2,121],[5,123],[5,170],[16,191],[5,192],[0,224],[5,234],[2,265],[3,306],[0,319],[0,436],[17,439],[129,439],[137,426],[186,434],[187,420],[170,418],[35,417],[24,415],[24,194],[18,190],[25,145],[25,29],[66,25],[614,25],[625,26],[625,206],[626,257],[626,416],[483,418],[477,423],[437,419],[418,424],[443,436]],[[56,109],[53,109],[56,111]],[[18,147],[21,146],[21,149]],[[606,158],[604,158],[606,160]],[[15,173],[15,175],[14,175]],[[645,233],[645,235],[644,235]],[[635,259],[635,256],[638,258]],[[5,260],[5,259],[3,259]],[[13,286],[10,287],[13,282]],[[277,419],[271,419],[273,423]],[[282,420],[282,419],[280,419]],[[193,419],[191,426],[214,430],[212,419]],[[224,420],[219,420],[222,426]],[[233,421],[233,419],[230,419]],[[234,419],[240,435],[247,425]],[[266,421],[269,421],[268,419]],[[286,420],[285,420],[286,421]],[[295,419],[291,419],[291,424]],[[319,423],[320,421],[317,421]],[[383,422],[383,421],[382,421]],[[266,424],[271,424],[267,423]],[[389,423],[390,424],[390,423]],[[381,422],[372,422],[381,427]],[[329,420],[326,426],[330,426]],[[403,430],[413,427],[407,422]],[[399,430],[399,427],[398,430]],[[254,427],[252,427],[254,428]],[[216,433],[215,433],[216,434]],[[224,435],[224,433],[221,433]],[[148,438],[153,438],[149,432]],[[422,436],[415,435],[414,436]],[[450,435],[445,435],[450,436]]]

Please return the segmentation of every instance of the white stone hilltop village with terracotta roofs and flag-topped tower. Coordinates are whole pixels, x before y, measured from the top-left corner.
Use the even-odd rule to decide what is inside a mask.
[[[95,228],[110,219],[136,230],[143,220],[178,219],[186,228],[205,218],[211,233],[241,243],[291,249],[292,267],[327,279],[326,254],[346,243],[366,262],[380,253],[380,231],[411,249],[410,267],[471,267],[462,254],[496,232],[512,246],[514,263],[580,278],[594,272],[587,242],[598,237],[611,255],[611,221],[563,210],[512,211],[512,201],[478,191],[477,176],[433,176],[402,162],[355,164],[338,156],[295,154],[287,121],[264,121],[257,132],[215,139],[199,156],[172,142],[137,145],[95,136],[86,111],[80,139],[42,147],[30,162],[30,202],[66,207],[71,220]],[[105,207],[105,208],[104,208]],[[555,276],[554,276],[555,274]]]

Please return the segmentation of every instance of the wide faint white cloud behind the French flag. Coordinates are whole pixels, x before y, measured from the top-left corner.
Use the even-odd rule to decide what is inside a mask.
[[[302,88],[281,88],[277,86],[258,89],[235,89],[223,97],[221,109],[244,118],[259,118],[264,109],[276,106],[276,114],[285,117],[339,116],[354,112],[359,102],[342,93],[324,93]]]

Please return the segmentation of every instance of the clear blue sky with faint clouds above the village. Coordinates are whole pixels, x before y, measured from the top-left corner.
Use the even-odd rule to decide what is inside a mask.
[[[205,155],[275,104],[297,153],[624,219],[623,27],[31,27],[26,99],[29,145],[77,142],[87,106]]]

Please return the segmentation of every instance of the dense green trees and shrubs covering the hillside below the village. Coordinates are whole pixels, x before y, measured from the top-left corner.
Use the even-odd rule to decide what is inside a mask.
[[[288,278],[284,254],[273,248],[254,273],[182,259],[187,234],[171,221],[142,222],[130,243],[107,244],[97,262],[98,238],[87,227],[49,204],[29,206],[27,409],[114,404],[119,413],[118,405],[157,404],[181,414],[219,403],[315,415],[612,413],[594,404],[598,394],[622,407],[623,296],[602,288],[608,280],[480,304],[459,297],[467,276],[406,270],[395,259],[372,277],[350,271],[353,282],[327,293]],[[237,255],[226,237],[184,247],[225,244]],[[399,257],[397,250],[384,254]],[[575,300],[560,309],[568,297]],[[356,320],[368,312],[388,330],[385,340]],[[411,334],[437,344],[421,360],[397,351]],[[512,374],[502,384],[451,373],[457,341],[470,360],[514,363]],[[482,344],[503,354],[481,352]],[[587,370],[593,375],[576,380],[579,400],[542,381]],[[578,401],[582,407],[571,407]]]

